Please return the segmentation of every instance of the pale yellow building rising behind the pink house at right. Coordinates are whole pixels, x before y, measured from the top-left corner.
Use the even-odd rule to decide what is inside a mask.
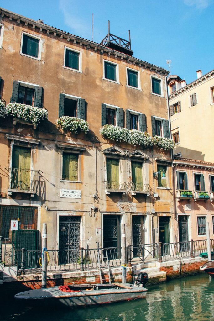
[[[167,79],[175,155],[213,162],[214,149],[214,70],[186,84],[180,77]]]

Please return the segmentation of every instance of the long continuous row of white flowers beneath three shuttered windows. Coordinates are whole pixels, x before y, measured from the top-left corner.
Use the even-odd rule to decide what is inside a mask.
[[[147,132],[140,132],[136,129],[128,130],[118,126],[105,125],[99,132],[110,140],[127,142],[133,146],[140,145],[147,148],[156,145],[167,151],[175,147],[175,142],[172,139],[159,136],[151,137]]]

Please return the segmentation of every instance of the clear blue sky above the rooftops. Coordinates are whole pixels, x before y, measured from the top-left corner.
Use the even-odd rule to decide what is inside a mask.
[[[214,0],[0,0],[0,6],[28,18],[100,42],[110,32],[128,39],[134,57],[168,69],[191,82],[196,70],[214,69]]]

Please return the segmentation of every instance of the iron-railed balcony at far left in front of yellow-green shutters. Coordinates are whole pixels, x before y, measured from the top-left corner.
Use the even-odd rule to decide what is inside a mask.
[[[9,168],[8,195],[16,193],[35,194],[36,171],[31,169]]]

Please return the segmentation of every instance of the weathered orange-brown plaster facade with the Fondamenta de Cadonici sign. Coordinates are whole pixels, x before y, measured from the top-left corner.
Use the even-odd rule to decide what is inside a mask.
[[[0,117],[0,234],[38,248],[45,222],[49,249],[118,247],[125,223],[127,245],[175,241],[168,72],[134,58],[124,39],[97,44],[0,13],[0,94],[12,104]],[[26,121],[12,110],[20,104],[48,120]],[[162,136],[162,147],[101,135],[105,125]]]

